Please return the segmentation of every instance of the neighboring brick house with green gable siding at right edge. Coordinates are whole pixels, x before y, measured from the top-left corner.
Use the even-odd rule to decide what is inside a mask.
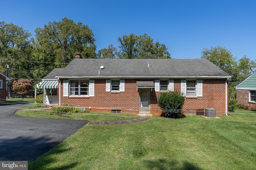
[[[238,84],[235,88],[238,104],[249,107],[256,106],[256,72]]]

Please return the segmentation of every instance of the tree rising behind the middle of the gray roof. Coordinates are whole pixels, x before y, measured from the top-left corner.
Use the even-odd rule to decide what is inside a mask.
[[[120,42],[119,58],[121,59],[170,59],[168,49],[164,44],[154,43],[149,35],[136,36],[133,33],[118,37]]]

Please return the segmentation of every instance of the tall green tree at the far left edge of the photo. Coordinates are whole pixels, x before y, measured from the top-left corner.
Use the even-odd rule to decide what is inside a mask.
[[[7,60],[11,68],[16,70],[30,70],[25,61],[31,56],[31,33],[13,23],[0,22],[0,58]],[[1,62],[0,71],[4,72],[6,63]],[[8,75],[9,76],[9,75]],[[30,77],[29,72],[13,72],[11,77]]]

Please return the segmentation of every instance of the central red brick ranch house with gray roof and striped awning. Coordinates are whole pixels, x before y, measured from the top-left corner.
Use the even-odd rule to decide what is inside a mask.
[[[82,59],[56,68],[37,84],[46,103],[84,107],[90,111],[160,115],[158,96],[184,94],[182,113],[205,108],[227,113],[230,76],[207,59]],[[55,100],[53,99],[55,97]]]

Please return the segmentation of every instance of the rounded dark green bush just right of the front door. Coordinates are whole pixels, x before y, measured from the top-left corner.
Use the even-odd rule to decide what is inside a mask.
[[[158,97],[158,106],[166,117],[178,118],[185,98],[180,92],[162,92]]]

